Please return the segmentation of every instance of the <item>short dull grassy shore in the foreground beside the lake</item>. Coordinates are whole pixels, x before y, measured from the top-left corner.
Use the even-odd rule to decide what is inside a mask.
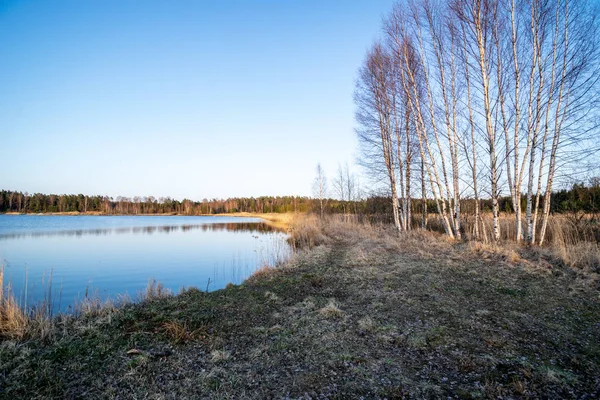
[[[0,398],[598,398],[595,276],[541,252],[303,219],[239,286],[0,339]]]

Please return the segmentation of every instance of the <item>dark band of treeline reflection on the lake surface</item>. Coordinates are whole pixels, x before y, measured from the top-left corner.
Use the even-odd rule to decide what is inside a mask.
[[[123,228],[98,228],[98,229],[71,229],[65,231],[52,232],[13,232],[2,233],[0,239],[15,239],[23,237],[42,237],[42,236],[107,236],[112,234],[146,234],[171,233],[171,232],[190,232],[201,229],[203,232],[228,231],[228,232],[249,232],[249,233],[268,233],[279,231],[264,222],[219,222],[214,224],[197,225],[162,225],[162,226],[135,226]]]

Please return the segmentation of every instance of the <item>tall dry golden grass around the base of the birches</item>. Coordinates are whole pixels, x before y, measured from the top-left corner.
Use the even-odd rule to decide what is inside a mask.
[[[483,214],[486,236],[475,240],[473,235],[474,218],[464,215],[462,227],[464,239],[477,246],[485,245],[487,249],[501,253],[507,259],[519,258],[518,253],[528,247],[525,243],[516,243],[516,221],[513,215],[504,214],[500,218],[501,240],[493,244],[492,216]],[[377,222],[373,222],[377,221]],[[316,215],[306,215],[291,222],[290,244],[294,249],[313,248],[326,244],[330,239],[344,238],[355,240],[377,239],[378,243],[387,243],[394,248],[400,243],[397,233],[389,222],[378,222],[381,218],[355,215],[328,215],[320,219]],[[443,235],[429,235],[421,226],[420,215],[413,216],[411,232],[402,235],[401,247],[411,247],[414,251],[427,253],[425,247],[435,247]],[[434,215],[430,215],[427,231],[443,234],[444,229]],[[382,241],[383,239],[383,241]],[[483,244],[481,243],[483,242]],[[546,241],[543,248],[528,247],[539,254],[549,255],[554,262],[586,272],[600,274],[600,221],[590,215],[552,215],[548,222]]]

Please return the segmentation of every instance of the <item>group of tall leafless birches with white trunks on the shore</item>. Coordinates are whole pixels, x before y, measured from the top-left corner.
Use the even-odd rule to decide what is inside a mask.
[[[557,176],[598,136],[597,15],[591,0],[396,4],[367,52],[355,103],[362,163],[385,182],[399,232],[413,227],[417,188],[423,227],[429,199],[448,236],[486,240],[489,199],[492,240],[543,244]],[[515,231],[503,236],[505,194]]]

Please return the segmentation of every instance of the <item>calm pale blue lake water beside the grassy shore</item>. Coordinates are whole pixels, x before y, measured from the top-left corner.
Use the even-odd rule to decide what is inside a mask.
[[[32,304],[51,275],[55,311],[68,311],[86,291],[134,298],[149,279],[174,292],[206,290],[209,279],[209,290],[239,284],[285,257],[285,240],[257,218],[0,215],[5,285]]]

